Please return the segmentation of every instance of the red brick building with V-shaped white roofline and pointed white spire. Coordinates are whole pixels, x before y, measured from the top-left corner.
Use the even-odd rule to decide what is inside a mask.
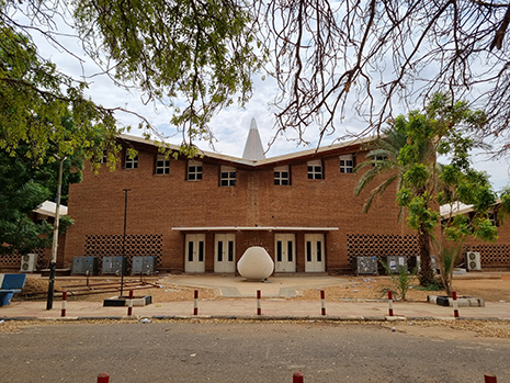
[[[125,254],[154,256],[159,270],[235,272],[250,246],[268,250],[275,272],[291,273],[345,272],[356,256],[418,252],[415,233],[397,223],[395,193],[388,190],[369,214],[366,194],[353,195],[363,140],[263,158],[252,121],[242,158],[201,151],[165,159],[143,138],[123,135],[120,143],[138,156],[124,150],[115,171],[86,169],[70,187],[75,225],[59,267],[76,256],[122,255],[124,189]]]

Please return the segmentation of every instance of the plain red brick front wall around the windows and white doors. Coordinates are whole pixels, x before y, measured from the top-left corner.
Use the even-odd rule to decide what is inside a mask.
[[[340,173],[338,155],[322,158],[322,180],[307,178],[303,159],[291,164],[291,185],[274,185],[272,166],[254,169],[237,166],[237,185],[225,188],[219,187],[217,159],[202,160],[202,181],[186,181],[185,159],[171,160],[170,174],[156,176],[155,156],[156,151],[139,151],[137,169],[125,170],[118,166],[111,172],[103,165],[98,176],[86,170],[83,181],[70,187],[69,216],[75,225],[67,234],[66,267],[70,267],[72,257],[86,254],[86,236],[123,234],[123,189],[131,189],[127,235],[162,235],[160,267],[163,269],[183,270],[184,267],[185,233],[172,227],[335,227],[338,229],[324,232],[329,271],[349,268],[348,235],[415,234],[405,223],[397,223],[393,187],[374,203],[369,214],[362,213],[369,190],[360,198],[353,195],[361,174]],[[363,154],[358,158],[363,160]],[[222,232],[206,233],[207,271],[214,268],[215,233]],[[247,247],[254,245],[265,247],[274,256],[274,232],[234,233],[237,259]],[[295,234],[296,267],[297,271],[304,271],[305,232]],[[506,240],[510,243],[510,238]]]

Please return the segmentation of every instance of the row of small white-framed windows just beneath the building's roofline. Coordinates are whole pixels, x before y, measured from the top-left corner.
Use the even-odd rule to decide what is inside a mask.
[[[138,168],[138,155],[131,158],[128,154],[124,158],[125,169]],[[352,155],[340,156],[340,172],[352,173],[354,168],[354,160]],[[170,174],[170,159],[165,158],[163,155],[158,155],[156,159],[156,174]],[[322,161],[320,159],[307,162],[307,174],[309,180],[324,179]],[[201,161],[188,161],[188,181],[201,181],[203,177],[203,168]],[[222,166],[219,173],[219,184],[222,187],[236,185],[236,168]],[[281,166],[274,168],[274,184],[290,185],[291,171],[288,166]]]

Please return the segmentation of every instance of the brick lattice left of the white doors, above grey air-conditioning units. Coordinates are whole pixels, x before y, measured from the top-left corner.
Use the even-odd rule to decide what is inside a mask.
[[[162,237],[162,234],[126,235],[127,267],[132,267],[133,257],[155,257],[159,268]],[[122,256],[122,235],[88,235],[86,236],[84,256],[98,257],[101,267],[103,257]]]

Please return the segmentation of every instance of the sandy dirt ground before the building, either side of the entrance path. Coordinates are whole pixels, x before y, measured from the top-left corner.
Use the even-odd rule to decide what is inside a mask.
[[[195,288],[186,288],[174,283],[171,275],[160,278],[146,279],[147,282],[154,283],[157,288],[151,288],[151,284],[145,285],[143,290],[135,289],[135,295],[152,295],[156,302],[175,302],[191,301]],[[95,286],[97,283],[104,283],[103,286]],[[91,280],[93,289],[86,288],[83,279],[76,280],[58,280],[55,283],[57,292],[67,291],[89,291],[98,294],[75,295],[68,294],[68,300],[87,300],[91,302],[100,302],[106,297],[118,295],[115,291],[103,292],[102,289],[112,288],[109,280]],[[117,286],[116,284],[115,286]],[[486,302],[510,302],[510,274],[498,275],[484,279],[457,279],[454,280],[454,290],[458,296],[476,296],[481,297]],[[72,288],[73,286],[73,288]],[[78,288],[79,286],[79,288]],[[150,289],[146,289],[150,288]],[[29,275],[23,292],[16,296],[18,300],[30,298],[33,294],[45,294],[47,292],[47,279],[34,278]],[[324,288],[326,292],[326,301],[338,300],[378,300],[386,297],[386,291],[390,289],[395,291],[389,277],[352,277],[348,279],[339,279],[339,284],[336,286]],[[222,300],[218,290],[197,289],[201,300]],[[297,289],[297,296],[292,300],[317,300],[318,289]],[[24,295],[24,296],[23,296]],[[445,295],[444,291],[423,291],[418,285],[418,280],[409,289],[406,300],[416,302],[426,302],[427,295]],[[398,296],[397,296],[398,297]],[[44,300],[44,296],[41,296]]]

